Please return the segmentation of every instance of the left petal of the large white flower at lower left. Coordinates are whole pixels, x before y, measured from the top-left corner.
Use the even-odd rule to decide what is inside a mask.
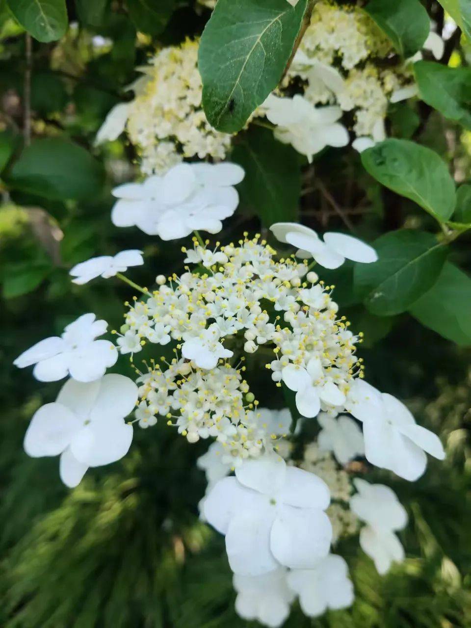
[[[24,451],[33,458],[57,456],[80,430],[80,420],[60,403],[46,403],[33,414],[24,435]]]

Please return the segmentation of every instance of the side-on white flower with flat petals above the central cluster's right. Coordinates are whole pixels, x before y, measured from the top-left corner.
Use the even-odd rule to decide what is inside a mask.
[[[328,232],[322,241],[313,229],[296,222],[276,222],[270,230],[280,242],[298,247],[300,250],[296,256],[306,259],[313,257],[324,268],[338,268],[345,258],[364,264],[378,259],[373,247],[345,234]]]

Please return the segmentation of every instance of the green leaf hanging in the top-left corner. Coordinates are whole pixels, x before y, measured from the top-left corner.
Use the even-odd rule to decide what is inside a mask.
[[[36,40],[47,43],[65,35],[68,25],[65,0],[7,0],[7,4]]]

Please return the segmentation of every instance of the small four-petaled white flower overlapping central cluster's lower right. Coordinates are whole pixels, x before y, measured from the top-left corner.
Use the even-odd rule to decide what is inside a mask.
[[[296,392],[296,408],[301,416],[312,418],[320,410],[320,403],[340,406],[345,402],[345,394],[332,380],[323,374],[320,359],[311,358],[306,367],[288,364],[281,371],[284,384]]]

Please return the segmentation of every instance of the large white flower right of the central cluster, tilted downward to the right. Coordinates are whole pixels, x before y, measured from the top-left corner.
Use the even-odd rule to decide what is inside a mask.
[[[372,465],[414,481],[425,471],[425,452],[438,460],[445,458],[438,436],[416,425],[401,401],[367,382],[355,380],[345,408],[363,423],[365,457]]]

